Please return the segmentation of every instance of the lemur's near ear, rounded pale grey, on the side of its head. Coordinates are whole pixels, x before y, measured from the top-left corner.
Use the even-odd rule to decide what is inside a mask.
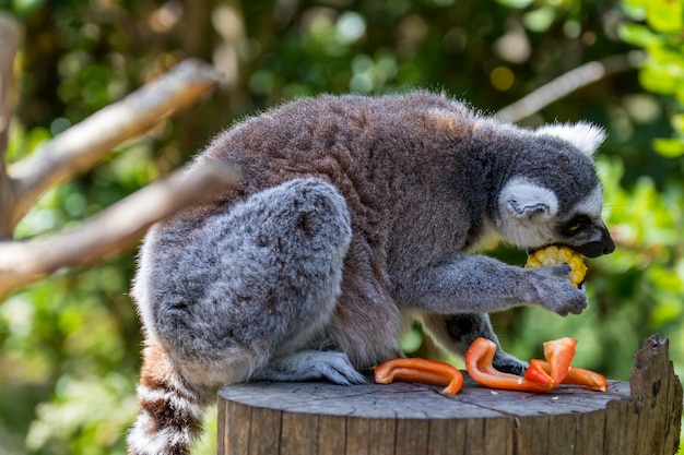
[[[511,179],[499,194],[499,207],[514,218],[551,218],[558,212],[558,199],[546,188],[522,178]]]

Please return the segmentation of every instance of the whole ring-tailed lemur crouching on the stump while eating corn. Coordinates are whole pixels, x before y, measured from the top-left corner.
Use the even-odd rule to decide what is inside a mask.
[[[603,139],[588,123],[504,124],[425,92],[300,99],[226,131],[197,161],[235,164],[243,183],[155,225],[141,250],[130,453],[188,453],[225,384],[362,383],[358,371],[400,355],[410,316],[463,355],[496,342],[488,312],[580,313],[567,266],[468,253],[493,235],[613,251],[591,158]],[[527,368],[500,349],[494,363]]]

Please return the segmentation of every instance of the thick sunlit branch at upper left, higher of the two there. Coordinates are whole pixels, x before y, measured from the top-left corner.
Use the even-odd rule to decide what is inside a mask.
[[[185,60],[156,81],[105,107],[47,143],[40,152],[9,167],[16,200],[14,227],[49,188],[86,171],[121,142],[144,133],[213,89],[220,75],[199,60]]]

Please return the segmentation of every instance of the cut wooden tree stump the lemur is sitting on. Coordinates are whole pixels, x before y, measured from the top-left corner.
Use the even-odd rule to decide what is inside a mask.
[[[609,383],[531,394],[465,376],[455,396],[409,383],[231,385],[219,393],[219,454],[674,454],[682,384],[668,340],[646,339],[629,383]]]

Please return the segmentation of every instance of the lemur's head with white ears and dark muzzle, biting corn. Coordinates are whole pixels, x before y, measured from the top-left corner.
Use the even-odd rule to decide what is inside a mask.
[[[604,139],[602,129],[582,122],[532,132],[498,196],[502,234],[528,251],[558,244],[589,258],[613,252],[592,160]]]

